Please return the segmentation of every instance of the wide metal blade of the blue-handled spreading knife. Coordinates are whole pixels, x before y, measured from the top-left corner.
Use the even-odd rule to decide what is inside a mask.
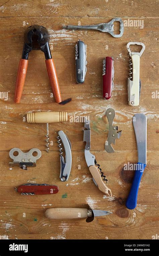
[[[146,164],[147,151],[147,118],[144,114],[133,117],[133,126],[138,148],[138,162]]]

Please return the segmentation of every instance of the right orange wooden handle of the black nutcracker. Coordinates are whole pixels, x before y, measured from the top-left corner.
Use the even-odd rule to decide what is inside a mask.
[[[61,100],[60,87],[58,83],[54,61],[53,59],[48,59],[48,60],[45,60],[45,63],[46,63],[46,68],[47,68],[48,76],[50,79],[52,91],[55,97],[55,101],[57,103],[60,103],[62,100]]]

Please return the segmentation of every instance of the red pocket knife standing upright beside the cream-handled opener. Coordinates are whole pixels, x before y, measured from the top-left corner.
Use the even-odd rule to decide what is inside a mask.
[[[111,92],[114,87],[114,59],[112,57],[106,57],[103,60],[103,98],[108,100],[111,97]]]

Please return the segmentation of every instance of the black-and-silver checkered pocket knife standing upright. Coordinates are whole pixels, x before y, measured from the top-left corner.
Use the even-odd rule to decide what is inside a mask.
[[[85,81],[87,72],[86,48],[87,45],[79,39],[75,45],[75,74],[78,84],[82,84]]]

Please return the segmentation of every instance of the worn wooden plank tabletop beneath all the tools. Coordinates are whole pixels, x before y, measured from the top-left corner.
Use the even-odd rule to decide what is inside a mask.
[[[8,92],[8,100],[0,99],[0,235],[9,239],[152,239],[158,232],[159,198],[159,106],[158,88],[158,1],[128,0],[0,0],[0,89]],[[124,34],[114,38],[99,31],[71,31],[62,25],[91,25],[109,22],[115,17],[123,21],[139,20],[144,28],[125,26]],[[41,51],[29,55],[29,67],[21,102],[15,104],[14,90],[19,59],[23,48],[23,33],[28,26],[43,25],[50,32],[51,53],[56,65],[62,100],[50,97],[51,87]],[[126,24],[126,23],[125,23]],[[85,83],[75,82],[74,46],[78,39],[87,44],[87,74]],[[145,44],[140,60],[142,91],[140,106],[127,103],[128,52],[126,44]],[[114,57],[114,90],[110,100],[102,98],[102,61]],[[157,92],[156,92],[157,91]],[[159,97],[159,96],[158,96]],[[114,124],[122,130],[116,140],[115,153],[108,154],[104,144],[108,136],[107,108],[116,111]],[[82,122],[49,124],[50,152],[45,152],[46,124],[28,124],[23,117],[28,112],[68,111],[70,116],[90,116],[91,152],[108,179],[112,197],[104,195],[92,181],[87,167]],[[136,113],[147,116],[147,167],[139,188],[136,209],[128,210],[125,200],[133,171],[123,171],[125,163],[138,160],[132,125]],[[68,120],[70,120],[68,118]],[[57,132],[63,130],[72,144],[72,169],[69,180],[59,180],[60,159]],[[42,157],[37,166],[21,170],[9,169],[12,148],[29,151],[38,148]],[[81,167],[81,169],[80,169]],[[56,195],[22,196],[14,187],[32,183],[59,186]],[[108,210],[113,214],[85,219],[49,220],[45,210],[51,207],[86,207]],[[25,216],[25,217],[24,217]]]

